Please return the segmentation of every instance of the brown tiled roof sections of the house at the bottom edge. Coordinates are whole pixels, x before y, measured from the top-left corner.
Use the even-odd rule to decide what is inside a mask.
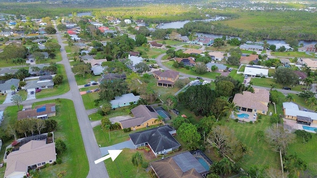
[[[185,153],[189,153],[189,152],[185,152]],[[181,155],[181,154],[184,154],[184,153],[180,153],[178,155]],[[178,155],[175,155],[175,156],[178,156]],[[180,165],[178,165],[176,161],[173,159],[175,156],[170,156],[170,157],[160,159],[158,161],[150,163],[151,167],[153,168],[153,170],[155,171],[155,173],[158,175],[159,178],[204,178],[201,174],[199,174],[196,171],[195,168],[191,168],[183,172],[182,169],[180,168]],[[186,163],[183,163],[183,164],[186,164]]]

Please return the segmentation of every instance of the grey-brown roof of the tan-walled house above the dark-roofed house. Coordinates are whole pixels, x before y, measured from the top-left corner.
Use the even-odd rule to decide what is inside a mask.
[[[131,113],[134,115],[134,118],[120,121],[123,129],[139,126],[152,118],[157,119],[159,116],[152,106],[143,104],[131,109]]]

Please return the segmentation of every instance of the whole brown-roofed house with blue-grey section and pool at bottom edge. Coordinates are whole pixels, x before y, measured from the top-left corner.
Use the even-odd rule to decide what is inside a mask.
[[[151,162],[158,178],[206,178],[212,161],[200,150],[186,151]]]

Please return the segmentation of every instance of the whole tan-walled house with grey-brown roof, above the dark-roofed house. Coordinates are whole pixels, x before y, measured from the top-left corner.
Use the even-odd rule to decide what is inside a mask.
[[[141,104],[131,109],[131,113],[133,118],[120,121],[121,129],[137,130],[162,123],[162,120],[158,120],[159,113],[152,106]]]

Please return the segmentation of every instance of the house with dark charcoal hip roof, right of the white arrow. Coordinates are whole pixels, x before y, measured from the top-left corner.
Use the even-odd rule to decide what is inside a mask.
[[[166,125],[129,134],[129,136],[136,148],[149,145],[155,156],[158,156],[180,147],[178,141],[172,136],[175,133],[176,130]]]

